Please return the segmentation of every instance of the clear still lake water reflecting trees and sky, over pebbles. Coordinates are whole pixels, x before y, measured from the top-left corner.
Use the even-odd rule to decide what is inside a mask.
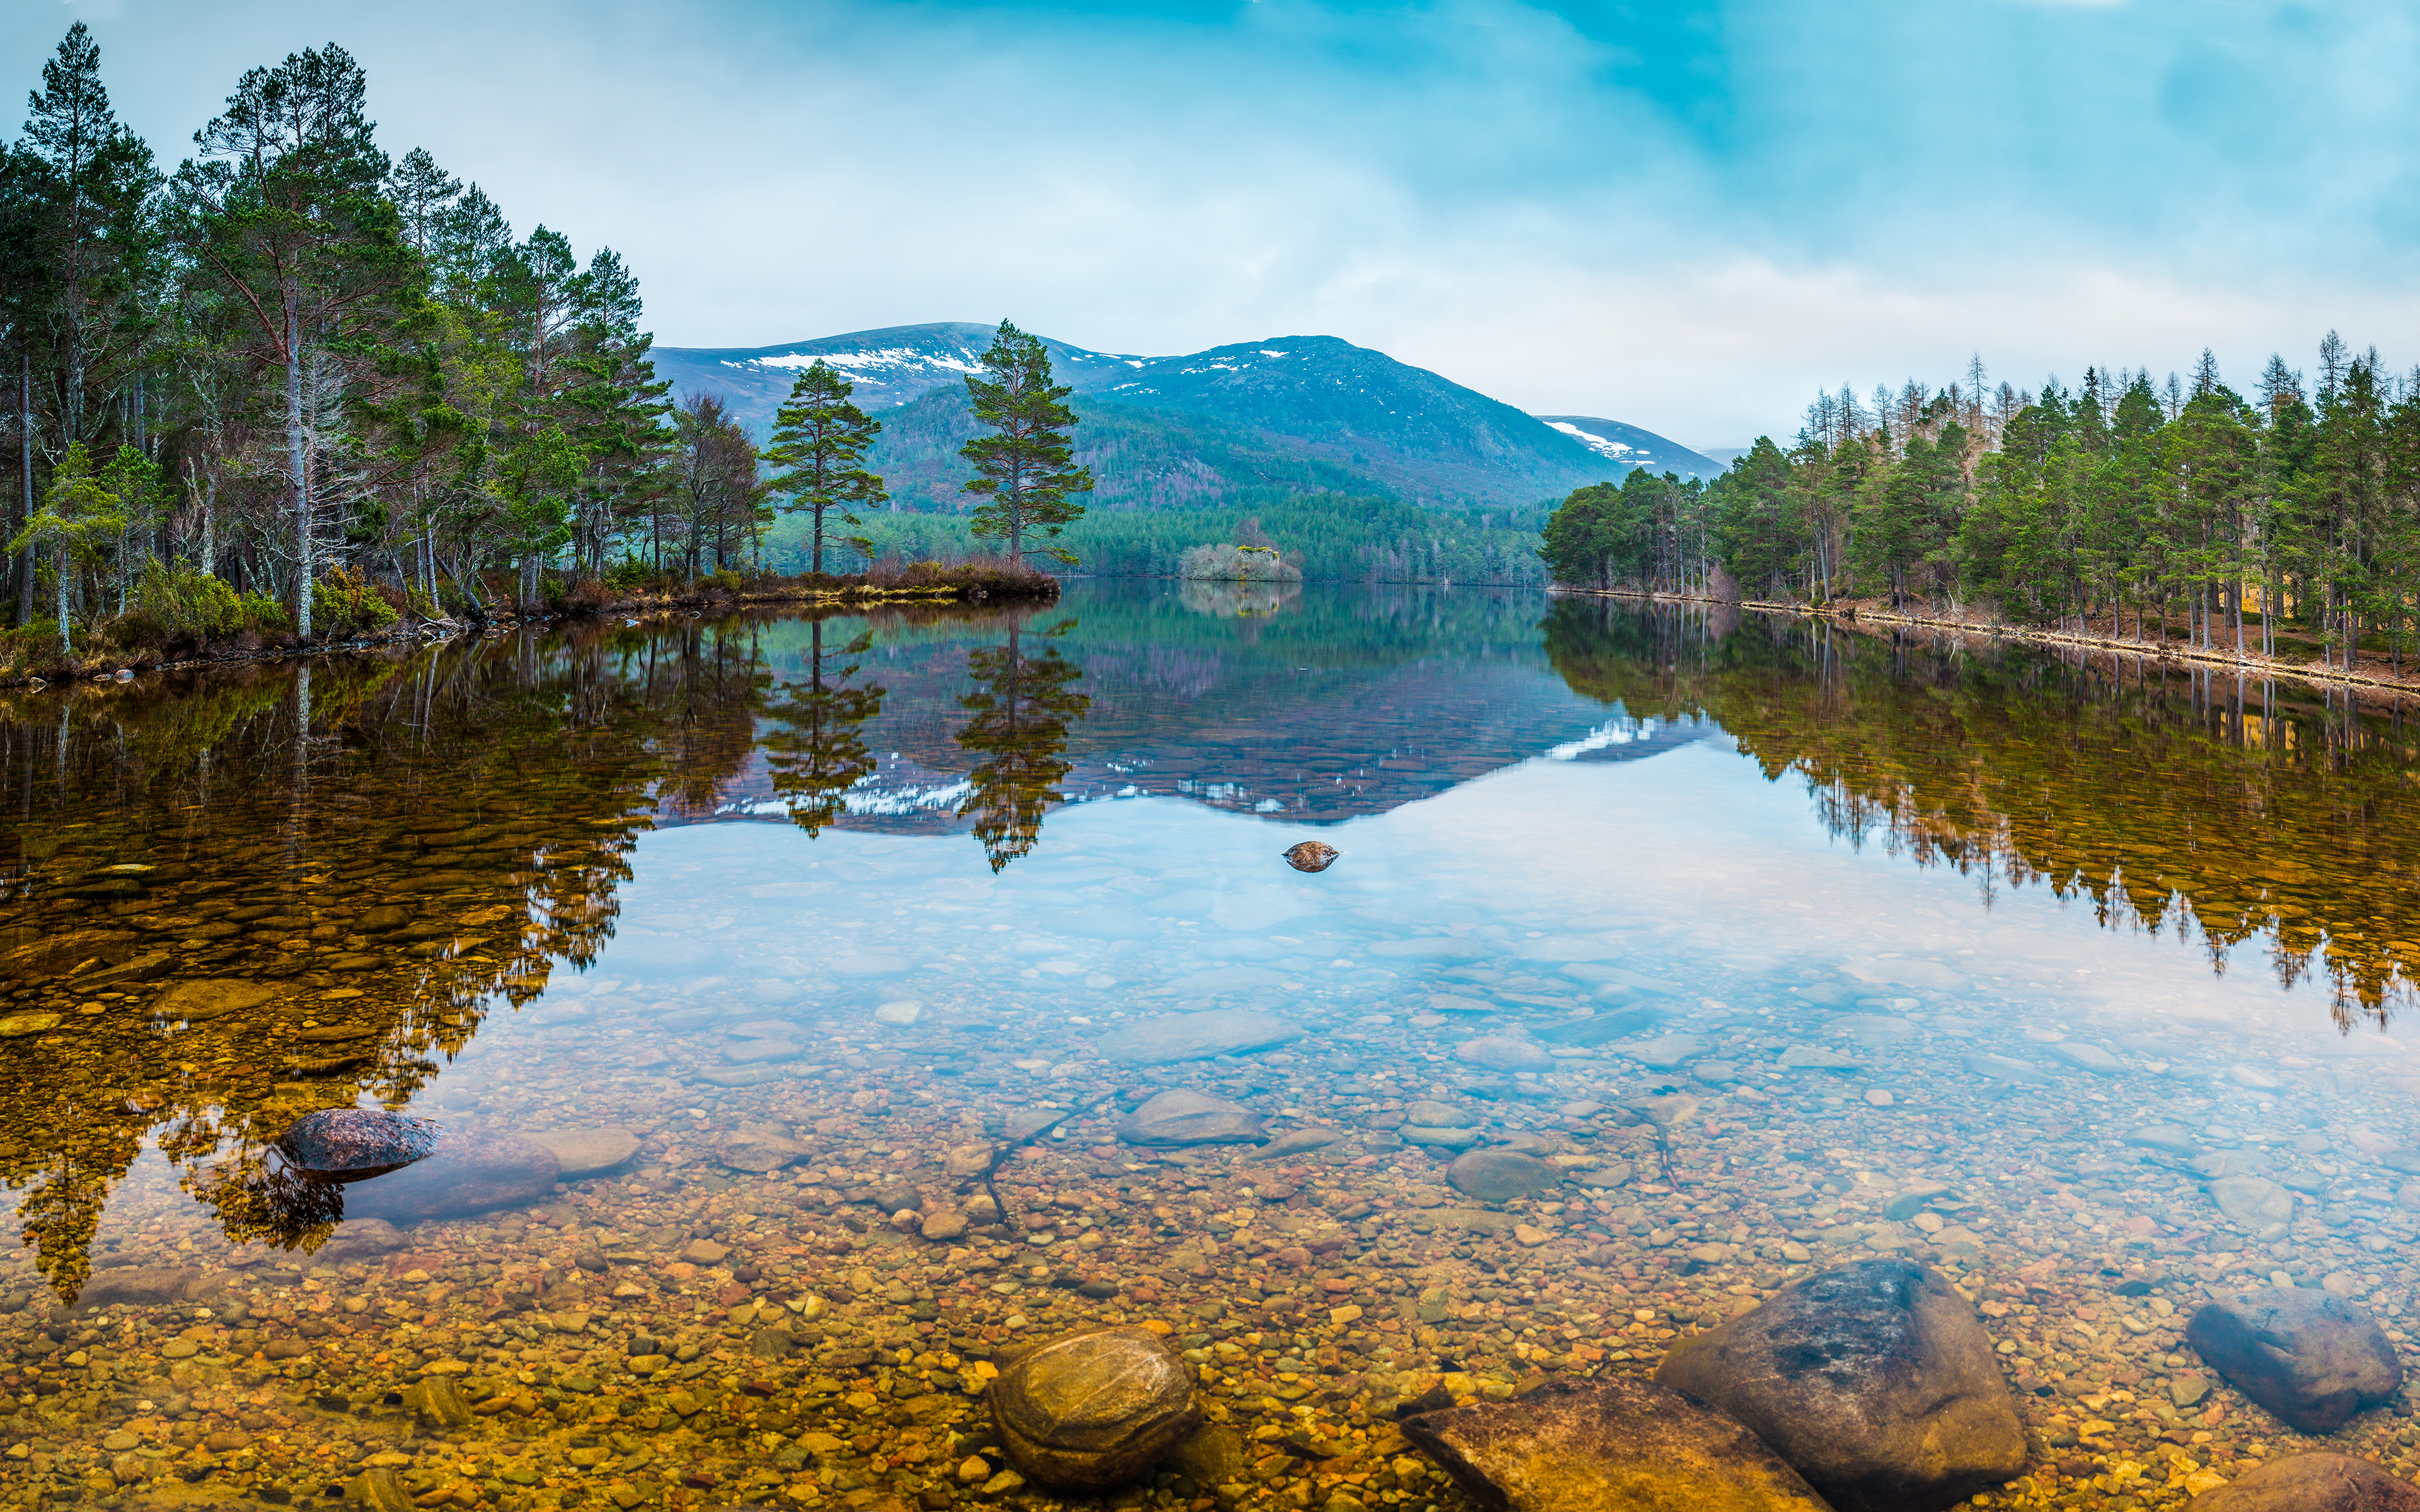
[[[2403,1331],[2393,719],[1338,588],[160,682],[0,704],[22,1495],[1031,1495],[983,1490],[973,1393],[1123,1318],[1246,1444],[1154,1502],[1428,1505],[1394,1403],[1653,1369],[1909,1253],[2023,1391],[1992,1495],[2159,1505],[2292,1439],[2178,1406],[2209,1287],[2333,1277]],[[1205,1009],[1300,1035],[1101,1055]],[[1333,1142],[1120,1142],[1157,1086]],[[1672,1096],[1660,1142],[1626,1103]],[[1568,1183],[1454,1190],[1418,1098]],[[486,1137],[494,1205],[281,1210],[269,1139],[353,1103]],[[1016,1139],[987,1222],[951,1152]],[[2219,1212],[2241,1168],[2284,1207]],[[416,1410],[431,1377],[482,1410]]]

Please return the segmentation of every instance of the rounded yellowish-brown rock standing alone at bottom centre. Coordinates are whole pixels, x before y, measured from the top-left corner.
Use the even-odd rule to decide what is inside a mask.
[[[992,1381],[992,1422],[1009,1461],[1058,1490],[1108,1490],[1142,1478],[1200,1408],[1193,1372],[1145,1328],[1055,1338]]]

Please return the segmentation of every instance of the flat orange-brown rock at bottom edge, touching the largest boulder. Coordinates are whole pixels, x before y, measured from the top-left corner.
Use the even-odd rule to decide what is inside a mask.
[[[1401,1430],[1508,1512],[1830,1512],[1757,1435],[1655,1381],[1554,1381],[1406,1418]]]

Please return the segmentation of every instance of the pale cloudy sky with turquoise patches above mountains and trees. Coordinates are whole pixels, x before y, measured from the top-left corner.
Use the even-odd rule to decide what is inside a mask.
[[[1331,334],[1539,414],[1786,438],[1817,387],[2396,368],[2420,10],[2386,0],[19,0],[174,165],[339,41],[382,145],[636,269],[666,346],[1016,319]]]

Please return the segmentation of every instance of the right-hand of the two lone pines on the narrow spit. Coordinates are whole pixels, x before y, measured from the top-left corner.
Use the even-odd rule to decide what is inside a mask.
[[[966,491],[983,498],[975,506],[975,535],[1007,539],[1009,564],[1024,566],[1028,530],[1058,537],[1084,518],[1084,506],[1067,496],[1091,494],[1091,469],[1074,464],[1067,428],[1077,423],[1077,414],[1065,404],[1074,389],[1050,382],[1050,351],[1038,336],[999,322],[983,368],[992,377],[968,375],[966,394],[975,421],[992,433],[958,448],[978,472]],[[1060,547],[1045,547],[1045,554],[1074,566],[1074,556]]]

